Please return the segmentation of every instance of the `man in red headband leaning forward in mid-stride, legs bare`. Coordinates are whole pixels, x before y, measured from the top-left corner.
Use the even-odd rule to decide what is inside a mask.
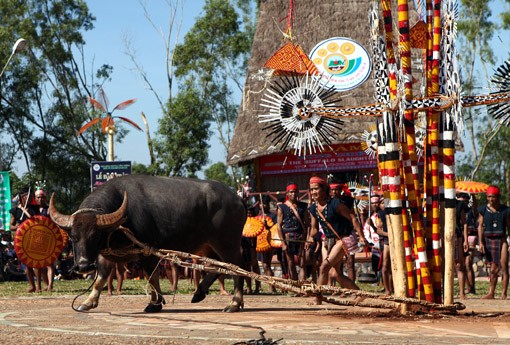
[[[342,239],[350,236],[353,228],[356,230],[361,242],[366,245],[366,240],[356,215],[340,199],[331,199],[329,197],[329,185],[320,177],[314,176],[310,178],[310,194],[315,203],[308,208],[312,217],[310,223],[311,230],[308,234],[306,245],[309,246],[309,242],[313,241],[318,233],[319,224],[326,237],[334,239],[334,245],[328,257],[322,261],[317,284],[324,285],[327,283],[329,271],[333,267],[337,270],[337,280],[343,288],[359,290],[354,281],[340,271],[340,264],[348,252]],[[315,303],[321,304],[322,296],[317,296]]]

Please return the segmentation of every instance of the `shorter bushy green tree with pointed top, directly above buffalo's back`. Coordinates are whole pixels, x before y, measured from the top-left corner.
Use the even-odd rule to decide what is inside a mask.
[[[154,140],[160,175],[188,176],[207,163],[210,113],[191,80],[167,105]]]

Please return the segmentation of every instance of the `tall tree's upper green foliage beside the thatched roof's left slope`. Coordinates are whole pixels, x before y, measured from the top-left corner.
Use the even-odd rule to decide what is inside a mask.
[[[193,80],[225,152],[233,135],[236,99],[250,56],[252,11],[252,1],[206,0],[204,15],[197,18],[184,42],[175,47],[175,75]]]

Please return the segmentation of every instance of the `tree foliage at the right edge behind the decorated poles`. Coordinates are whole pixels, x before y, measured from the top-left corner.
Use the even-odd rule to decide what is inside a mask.
[[[475,83],[481,79],[475,74],[477,59],[480,60],[485,79],[490,79],[486,64],[493,64],[495,59],[489,42],[499,25],[491,21],[490,1],[462,0],[461,3],[463,15],[459,20],[458,29],[460,51],[463,54],[460,57],[463,66],[467,66],[462,71],[463,91],[470,94],[479,89],[475,87]],[[501,27],[509,28],[509,14],[510,11],[499,13],[495,18],[496,20],[501,18]],[[510,201],[510,159],[508,158],[510,157],[510,130],[495,122],[485,113],[485,108],[469,108],[464,110],[464,115],[473,151],[460,160],[457,165],[457,174],[502,187],[503,201]]]

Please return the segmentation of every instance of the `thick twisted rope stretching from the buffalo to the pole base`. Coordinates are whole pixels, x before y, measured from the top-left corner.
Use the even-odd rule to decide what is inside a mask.
[[[313,282],[306,280],[300,281],[275,276],[260,275],[251,271],[247,271],[231,263],[221,262],[215,259],[202,257],[199,255],[181,251],[153,248],[138,241],[128,228],[121,226],[119,227],[119,230],[122,231],[133,242],[133,246],[118,250],[108,247],[101,251],[102,255],[111,256],[126,256],[132,254],[143,254],[147,256],[155,255],[162,260],[171,261],[185,268],[201,270],[207,273],[237,275],[245,278],[255,279],[257,281],[269,284],[283,291],[292,292],[304,296],[320,296],[322,301],[335,305],[392,309],[397,308],[399,304],[404,303],[407,305],[416,306],[421,309],[425,308],[428,311],[435,310],[452,313],[466,308],[465,305],[462,303],[444,305],[440,303],[431,303],[415,298],[403,298],[390,295],[381,295],[369,291],[344,289],[336,286],[317,285]],[[189,261],[188,259],[192,259],[195,262]],[[323,296],[325,293],[338,294],[342,296],[352,296],[355,297],[355,299],[340,300],[333,297],[325,297]],[[372,299],[374,301],[367,301],[366,299]]]

